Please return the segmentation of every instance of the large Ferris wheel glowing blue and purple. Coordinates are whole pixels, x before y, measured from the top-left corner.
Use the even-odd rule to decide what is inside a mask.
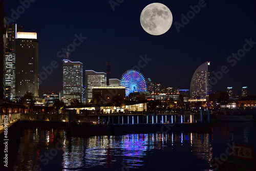
[[[137,70],[127,70],[123,73],[120,86],[125,87],[125,96],[133,92],[146,91],[146,81],[144,76]]]

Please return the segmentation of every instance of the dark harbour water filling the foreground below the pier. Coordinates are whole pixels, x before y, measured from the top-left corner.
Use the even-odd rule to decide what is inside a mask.
[[[9,152],[9,170],[214,170],[209,162],[225,153],[228,142],[256,147],[253,122],[217,122],[210,134],[75,137],[41,126],[21,132]]]

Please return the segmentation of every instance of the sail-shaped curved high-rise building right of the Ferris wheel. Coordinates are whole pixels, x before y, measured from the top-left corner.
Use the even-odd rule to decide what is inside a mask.
[[[206,99],[210,94],[210,62],[205,62],[195,71],[190,83],[190,97]]]

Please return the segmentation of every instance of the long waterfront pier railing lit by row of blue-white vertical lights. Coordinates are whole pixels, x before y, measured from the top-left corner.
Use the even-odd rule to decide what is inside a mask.
[[[190,113],[112,113],[112,114],[76,114],[69,111],[65,115],[58,114],[20,114],[22,121],[50,121],[69,123],[93,123],[93,124],[134,124],[134,123],[185,123],[195,122],[195,116]]]

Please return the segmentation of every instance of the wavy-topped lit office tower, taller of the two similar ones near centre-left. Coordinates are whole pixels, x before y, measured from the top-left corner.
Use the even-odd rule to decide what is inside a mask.
[[[63,59],[63,102],[82,102],[82,63]]]

